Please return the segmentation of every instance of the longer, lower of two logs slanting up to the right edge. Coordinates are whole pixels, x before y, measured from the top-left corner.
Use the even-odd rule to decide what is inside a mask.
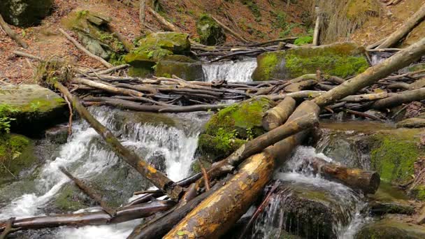
[[[331,89],[329,92],[318,96],[313,99],[313,101],[319,106],[327,106],[331,103],[335,103],[346,96],[355,94],[360,89],[363,89],[363,87],[372,85],[374,82],[384,78],[390,73],[408,66],[424,54],[425,38],[422,38],[417,43],[397,52],[395,55],[382,61],[380,64],[368,68],[366,71],[356,75],[354,78],[346,80],[343,84],[338,85],[338,87]]]

